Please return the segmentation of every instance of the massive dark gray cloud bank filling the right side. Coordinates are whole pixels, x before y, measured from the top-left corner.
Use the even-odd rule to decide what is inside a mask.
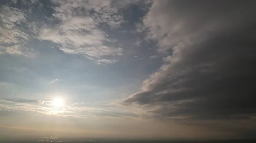
[[[155,118],[246,119],[256,115],[255,2],[154,1],[143,24],[163,58],[141,91],[122,101]]]

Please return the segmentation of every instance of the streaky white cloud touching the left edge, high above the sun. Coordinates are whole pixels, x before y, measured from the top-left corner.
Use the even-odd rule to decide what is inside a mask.
[[[1,54],[20,55],[30,58],[35,56],[32,49],[23,45],[29,38],[29,35],[20,26],[23,22],[27,22],[26,17],[24,11],[20,9],[9,6],[0,7]]]

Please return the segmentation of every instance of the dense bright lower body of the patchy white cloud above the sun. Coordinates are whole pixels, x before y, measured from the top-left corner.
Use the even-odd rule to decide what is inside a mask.
[[[103,45],[107,42],[106,34],[96,28],[90,17],[73,17],[55,28],[45,27],[39,32],[39,37],[61,44],[66,53],[81,54],[90,57],[103,55],[121,55],[118,48]]]

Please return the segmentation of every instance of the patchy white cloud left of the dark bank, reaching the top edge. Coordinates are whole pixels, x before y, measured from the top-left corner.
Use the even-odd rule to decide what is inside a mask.
[[[39,31],[40,39],[61,44],[60,49],[65,53],[80,54],[93,59],[105,55],[122,55],[122,48],[105,44],[114,43],[115,40],[99,28],[101,25],[118,28],[125,22],[122,15],[117,14],[121,7],[114,7],[112,0],[54,0],[54,3],[60,5],[53,14],[60,22],[57,25],[44,25]],[[124,5],[118,2],[114,4]],[[90,13],[92,9],[95,11],[93,14]]]

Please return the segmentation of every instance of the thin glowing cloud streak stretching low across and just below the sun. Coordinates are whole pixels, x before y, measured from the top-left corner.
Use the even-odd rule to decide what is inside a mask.
[[[68,103],[63,107],[55,107],[52,101],[31,100],[0,100],[0,109],[3,111],[37,112],[44,115],[57,115],[73,118],[122,118],[137,117],[132,112],[118,112],[99,107],[88,107],[87,104]]]

